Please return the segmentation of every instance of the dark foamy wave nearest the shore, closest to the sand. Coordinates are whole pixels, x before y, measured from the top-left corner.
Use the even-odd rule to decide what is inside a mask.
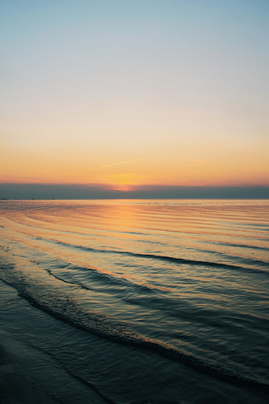
[[[12,263],[2,262],[1,280],[17,289],[19,296],[31,305],[47,312],[54,318],[71,326],[91,332],[99,337],[115,343],[131,345],[141,349],[154,351],[170,360],[185,364],[213,377],[237,385],[245,385],[269,391],[269,385],[253,377],[242,366],[228,362],[221,357],[213,360],[201,358],[184,349],[177,349],[161,341],[149,339],[134,332],[127,322],[119,322],[94,311],[79,307],[72,295],[66,295],[66,289],[54,289],[51,285],[38,282],[37,279],[26,278]]]

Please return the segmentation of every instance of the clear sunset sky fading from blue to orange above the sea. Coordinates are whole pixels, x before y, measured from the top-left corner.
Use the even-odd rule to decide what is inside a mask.
[[[2,0],[0,16],[0,189],[269,186],[267,0]]]

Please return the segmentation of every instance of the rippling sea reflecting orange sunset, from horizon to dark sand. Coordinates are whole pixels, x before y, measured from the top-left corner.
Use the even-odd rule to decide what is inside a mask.
[[[269,200],[5,200],[0,226],[0,339],[55,402],[268,402]]]

